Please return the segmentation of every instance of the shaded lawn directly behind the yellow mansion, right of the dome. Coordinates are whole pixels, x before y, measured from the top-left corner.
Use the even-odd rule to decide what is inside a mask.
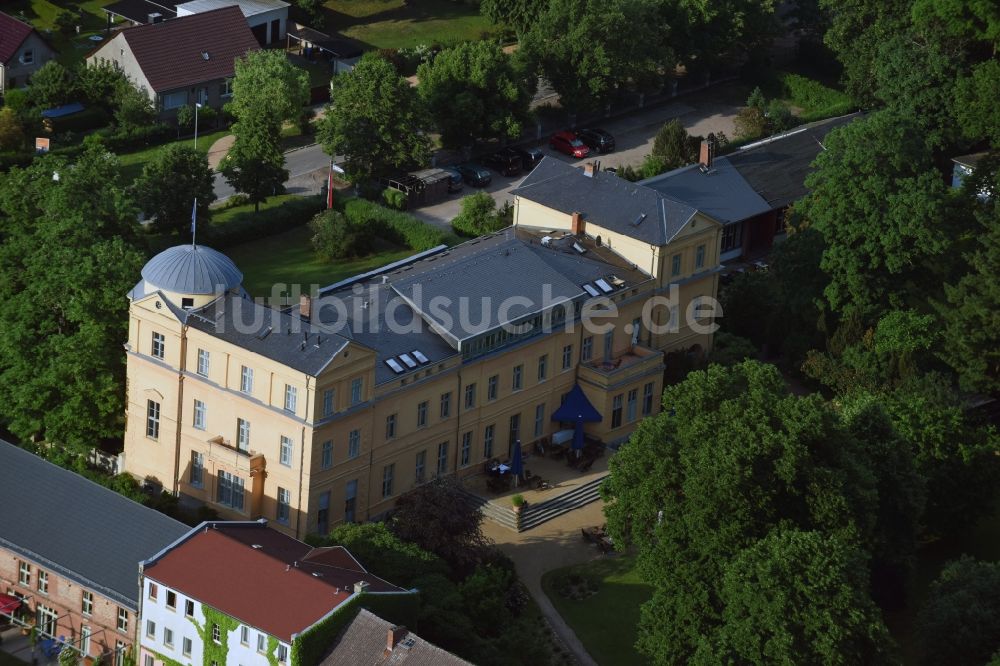
[[[309,227],[301,226],[225,252],[243,271],[243,287],[253,296],[270,296],[271,286],[279,282],[301,284],[303,291],[312,284],[325,287],[415,254],[408,248],[386,246],[378,254],[362,259],[328,262],[313,252],[309,236]]]

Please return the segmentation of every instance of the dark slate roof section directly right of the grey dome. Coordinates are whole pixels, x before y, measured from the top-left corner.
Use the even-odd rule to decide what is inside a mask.
[[[233,294],[188,312],[186,323],[314,377],[348,344],[327,327]]]

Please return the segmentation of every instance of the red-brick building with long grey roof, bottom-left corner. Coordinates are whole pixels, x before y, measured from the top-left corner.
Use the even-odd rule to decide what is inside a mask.
[[[190,528],[2,440],[0,468],[0,621],[120,666],[139,562]]]

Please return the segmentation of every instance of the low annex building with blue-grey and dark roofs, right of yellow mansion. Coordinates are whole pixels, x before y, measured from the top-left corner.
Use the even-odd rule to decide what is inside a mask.
[[[785,231],[788,207],[804,197],[806,176],[823,140],[858,114],[821,120],[717,156],[703,142],[697,164],[642,184],[723,223],[720,259],[755,257]]]

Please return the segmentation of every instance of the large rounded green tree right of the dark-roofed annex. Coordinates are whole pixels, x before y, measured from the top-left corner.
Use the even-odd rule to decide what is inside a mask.
[[[927,270],[949,247],[949,195],[917,126],[879,112],[827,137],[800,210],[823,235],[826,298],[876,315],[933,288]]]

